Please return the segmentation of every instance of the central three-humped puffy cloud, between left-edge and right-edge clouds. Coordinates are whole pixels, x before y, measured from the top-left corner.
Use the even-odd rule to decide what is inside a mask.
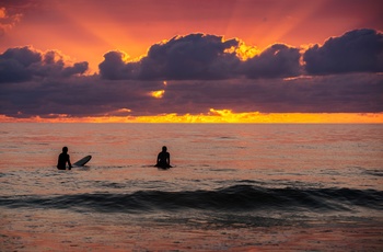
[[[300,73],[299,49],[276,44],[260,55],[241,60],[242,42],[221,36],[190,34],[176,36],[150,47],[136,62],[126,54],[109,51],[100,64],[103,79],[222,80],[230,78],[279,78]]]

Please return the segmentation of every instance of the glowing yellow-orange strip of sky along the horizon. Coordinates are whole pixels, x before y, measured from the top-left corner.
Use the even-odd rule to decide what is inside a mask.
[[[0,123],[383,124],[383,113],[233,113],[231,110],[213,108],[206,114],[184,115],[171,113],[153,116],[53,116],[55,117],[14,118],[0,115]]]

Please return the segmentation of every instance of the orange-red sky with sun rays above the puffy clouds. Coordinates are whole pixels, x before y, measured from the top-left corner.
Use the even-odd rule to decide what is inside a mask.
[[[329,36],[353,28],[383,28],[380,1],[5,2],[10,2],[10,8],[4,10],[9,16],[7,23],[13,25],[0,37],[0,51],[24,45],[42,50],[59,49],[76,60],[89,61],[92,71],[97,71],[108,50],[120,49],[136,58],[154,43],[197,32],[237,37],[247,45],[265,48],[274,43],[295,47],[323,43]]]

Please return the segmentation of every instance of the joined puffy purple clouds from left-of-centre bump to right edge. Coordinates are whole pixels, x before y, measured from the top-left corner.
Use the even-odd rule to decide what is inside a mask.
[[[125,62],[121,51],[109,51],[100,64],[100,75],[108,80],[220,80],[383,71],[383,34],[374,30],[355,30],[332,37],[302,55],[300,48],[275,44],[241,60],[240,46],[236,38],[176,36],[151,46],[148,55],[136,62]]]

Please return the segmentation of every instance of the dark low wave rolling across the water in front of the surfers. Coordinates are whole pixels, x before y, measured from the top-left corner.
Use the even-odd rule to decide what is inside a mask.
[[[212,191],[137,191],[130,194],[3,196],[9,208],[90,209],[109,213],[202,209],[220,211],[352,211],[357,207],[383,210],[383,192],[350,188],[266,188],[234,185]]]

